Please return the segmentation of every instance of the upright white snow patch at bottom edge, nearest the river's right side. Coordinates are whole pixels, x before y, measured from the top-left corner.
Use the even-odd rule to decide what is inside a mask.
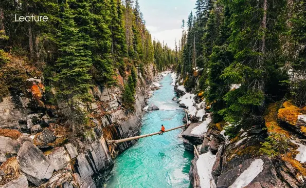
[[[210,187],[210,181],[213,181],[211,171],[215,161],[215,155],[211,152],[201,154],[196,161],[197,174],[200,177],[201,187]]]

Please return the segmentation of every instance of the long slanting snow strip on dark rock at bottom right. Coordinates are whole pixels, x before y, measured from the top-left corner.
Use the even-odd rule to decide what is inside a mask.
[[[242,188],[248,185],[253,181],[256,176],[263,170],[263,161],[262,159],[255,159],[251,162],[249,168],[247,168],[240,176],[230,185],[228,188]]]

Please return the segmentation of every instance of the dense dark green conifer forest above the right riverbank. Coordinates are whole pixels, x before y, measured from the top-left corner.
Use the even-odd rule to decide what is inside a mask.
[[[215,122],[258,124],[270,102],[306,105],[306,2],[197,0],[179,41],[187,91]]]

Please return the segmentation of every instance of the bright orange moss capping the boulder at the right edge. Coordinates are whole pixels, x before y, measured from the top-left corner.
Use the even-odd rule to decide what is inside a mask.
[[[298,115],[306,113],[306,109],[300,109],[292,104],[291,101],[285,101],[282,105],[284,108],[279,109],[277,117],[287,123],[295,126]]]

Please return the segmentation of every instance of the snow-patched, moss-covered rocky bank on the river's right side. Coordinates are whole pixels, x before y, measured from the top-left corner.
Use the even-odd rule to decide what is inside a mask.
[[[225,121],[212,122],[203,92],[197,95],[186,92],[182,81],[176,82],[175,91],[190,123],[183,138],[185,149],[195,154],[189,172],[193,187],[306,186],[305,108],[300,109],[290,101],[272,103],[263,124],[244,126],[230,137],[227,130],[235,126]],[[269,145],[268,137],[277,145]],[[277,158],[269,155],[282,147],[285,152]]]

